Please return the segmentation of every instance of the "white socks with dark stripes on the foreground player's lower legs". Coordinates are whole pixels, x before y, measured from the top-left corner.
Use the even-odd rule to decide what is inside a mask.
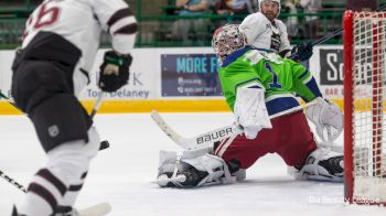
[[[89,162],[99,150],[99,136],[88,130],[88,143],[71,141],[47,153],[46,166],[37,171],[18,212],[47,216],[57,205],[73,206],[86,177]]]

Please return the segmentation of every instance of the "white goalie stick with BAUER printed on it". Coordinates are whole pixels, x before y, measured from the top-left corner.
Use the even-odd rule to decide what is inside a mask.
[[[275,114],[270,116],[270,119],[275,119],[280,116],[289,115],[296,111],[303,110],[310,106],[313,106],[317,104],[317,100],[312,100],[308,104],[293,107],[291,109],[287,109],[285,111]],[[222,128],[217,128],[214,130],[211,130],[208,132],[192,137],[192,138],[184,138],[180,136],[178,132],[175,132],[172,127],[170,127],[160,116],[160,114],[156,110],[151,111],[151,118],[153,121],[160,127],[160,129],[171,139],[173,140],[178,145],[185,150],[196,150],[196,149],[203,149],[212,147],[214,142],[224,140],[226,138],[229,138],[232,136],[237,136],[244,132],[243,128],[238,125],[232,123]]]

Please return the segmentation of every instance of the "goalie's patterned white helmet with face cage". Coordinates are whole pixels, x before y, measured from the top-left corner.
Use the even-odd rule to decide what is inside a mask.
[[[219,61],[245,46],[245,35],[238,30],[238,24],[225,24],[213,33],[212,47]]]

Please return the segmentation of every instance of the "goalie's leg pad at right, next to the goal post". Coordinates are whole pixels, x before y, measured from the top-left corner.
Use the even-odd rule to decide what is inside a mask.
[[[343,182],[343,154],[318,148],[294,175],[302,180]]]

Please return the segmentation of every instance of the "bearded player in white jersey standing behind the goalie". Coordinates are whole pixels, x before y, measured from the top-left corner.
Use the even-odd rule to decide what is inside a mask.
[[[239,30],[247,37],[247,44],[274,51],[282,57],[297,53],[294,60],[309,60],[312,55],[311,43],[292,48],[285,23],[277,19],[281,9],[280,0],[258,0],[258,6],[259,11],[246,17],[239,25]]]

